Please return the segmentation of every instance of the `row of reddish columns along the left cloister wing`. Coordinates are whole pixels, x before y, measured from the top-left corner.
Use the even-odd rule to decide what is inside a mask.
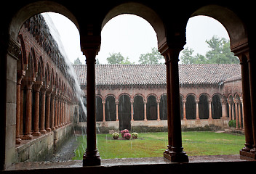
[[[71,99],[63,91],[18,76],[16,144],[71,123]]]

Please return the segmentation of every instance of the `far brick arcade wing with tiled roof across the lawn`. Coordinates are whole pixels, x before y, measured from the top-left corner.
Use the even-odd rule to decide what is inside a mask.
[[[87,66],[73,67],[87,94]],[[167,127],[165,65],[96,65],[95,69],[98,127],[138,131],[138,127]],[[183,128],[223,129],[229,120],[244,128],[240,69],[240,65],[179,65]],[[84,120],[81,116],[80,122]]]

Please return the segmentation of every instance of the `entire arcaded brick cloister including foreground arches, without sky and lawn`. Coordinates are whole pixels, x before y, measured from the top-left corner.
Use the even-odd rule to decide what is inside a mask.
[[[238,167],[244,173],[255,171],[256,37],[252,2],[5,3],[6,10],[0,11],[0,173],[205,173],[209,169],[212,173],[226,173],[220,168],[237,173]],[[83,160],[73,166],[60,162],[61,167],[55,168],[57,164],[35,163],[46,167],[9,171],[16,162],[47,159],[68,139],[79,117],[75,79],[39,15],[42,12],[63,14],[79,30],[87,70],[84,65],[76,70],[86,98],[87,117],[81,117],[78,124],[86,121],[86,149]],[[101,30],[119,14],[135,14],[151,24],[164,65],[95,65]],[[240,65],[178,64],[186,42],[186,24],[197,15],[223,24]],[[245,144],[240,155],[232,156],[232,160],[220,155],[216,162],[215,157],[205,161],[188,157],[183,151],[182,125],[214,124],[225,128],[229,119],[236,119],[236,128],[244,129]],[[117,129],[166,126],[168,145],[156,164],[129,165],[127,159],[122,159],[121,165],[104,165],[106,160],[97,151],[97,125]]]

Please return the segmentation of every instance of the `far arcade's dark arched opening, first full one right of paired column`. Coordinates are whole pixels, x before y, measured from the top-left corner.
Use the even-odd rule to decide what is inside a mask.
[[[185,102],[185,116],[187,120],[196,119],[196,96],[189,94]]]

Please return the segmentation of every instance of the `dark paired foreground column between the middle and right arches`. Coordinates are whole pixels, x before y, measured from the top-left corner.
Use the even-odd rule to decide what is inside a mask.
[[[169,89],[167,89],[167,96],[170,96],[170,120],[171,128],[168,128],[168,134],[172,134],[172,147],[171,151],[164,152],[164,157],[171,160],[172,162],[188,162],[188,156],[183,151],[182,138],[181,138],[181,121],[180,121],[180,86],[179,86],[179,67],[178,57],[181,49],[169,49],[165,45],[164,51],[161,54],[166,59],[166,64],[169,66]],[[168,113],[169,114],[169,113]]]

